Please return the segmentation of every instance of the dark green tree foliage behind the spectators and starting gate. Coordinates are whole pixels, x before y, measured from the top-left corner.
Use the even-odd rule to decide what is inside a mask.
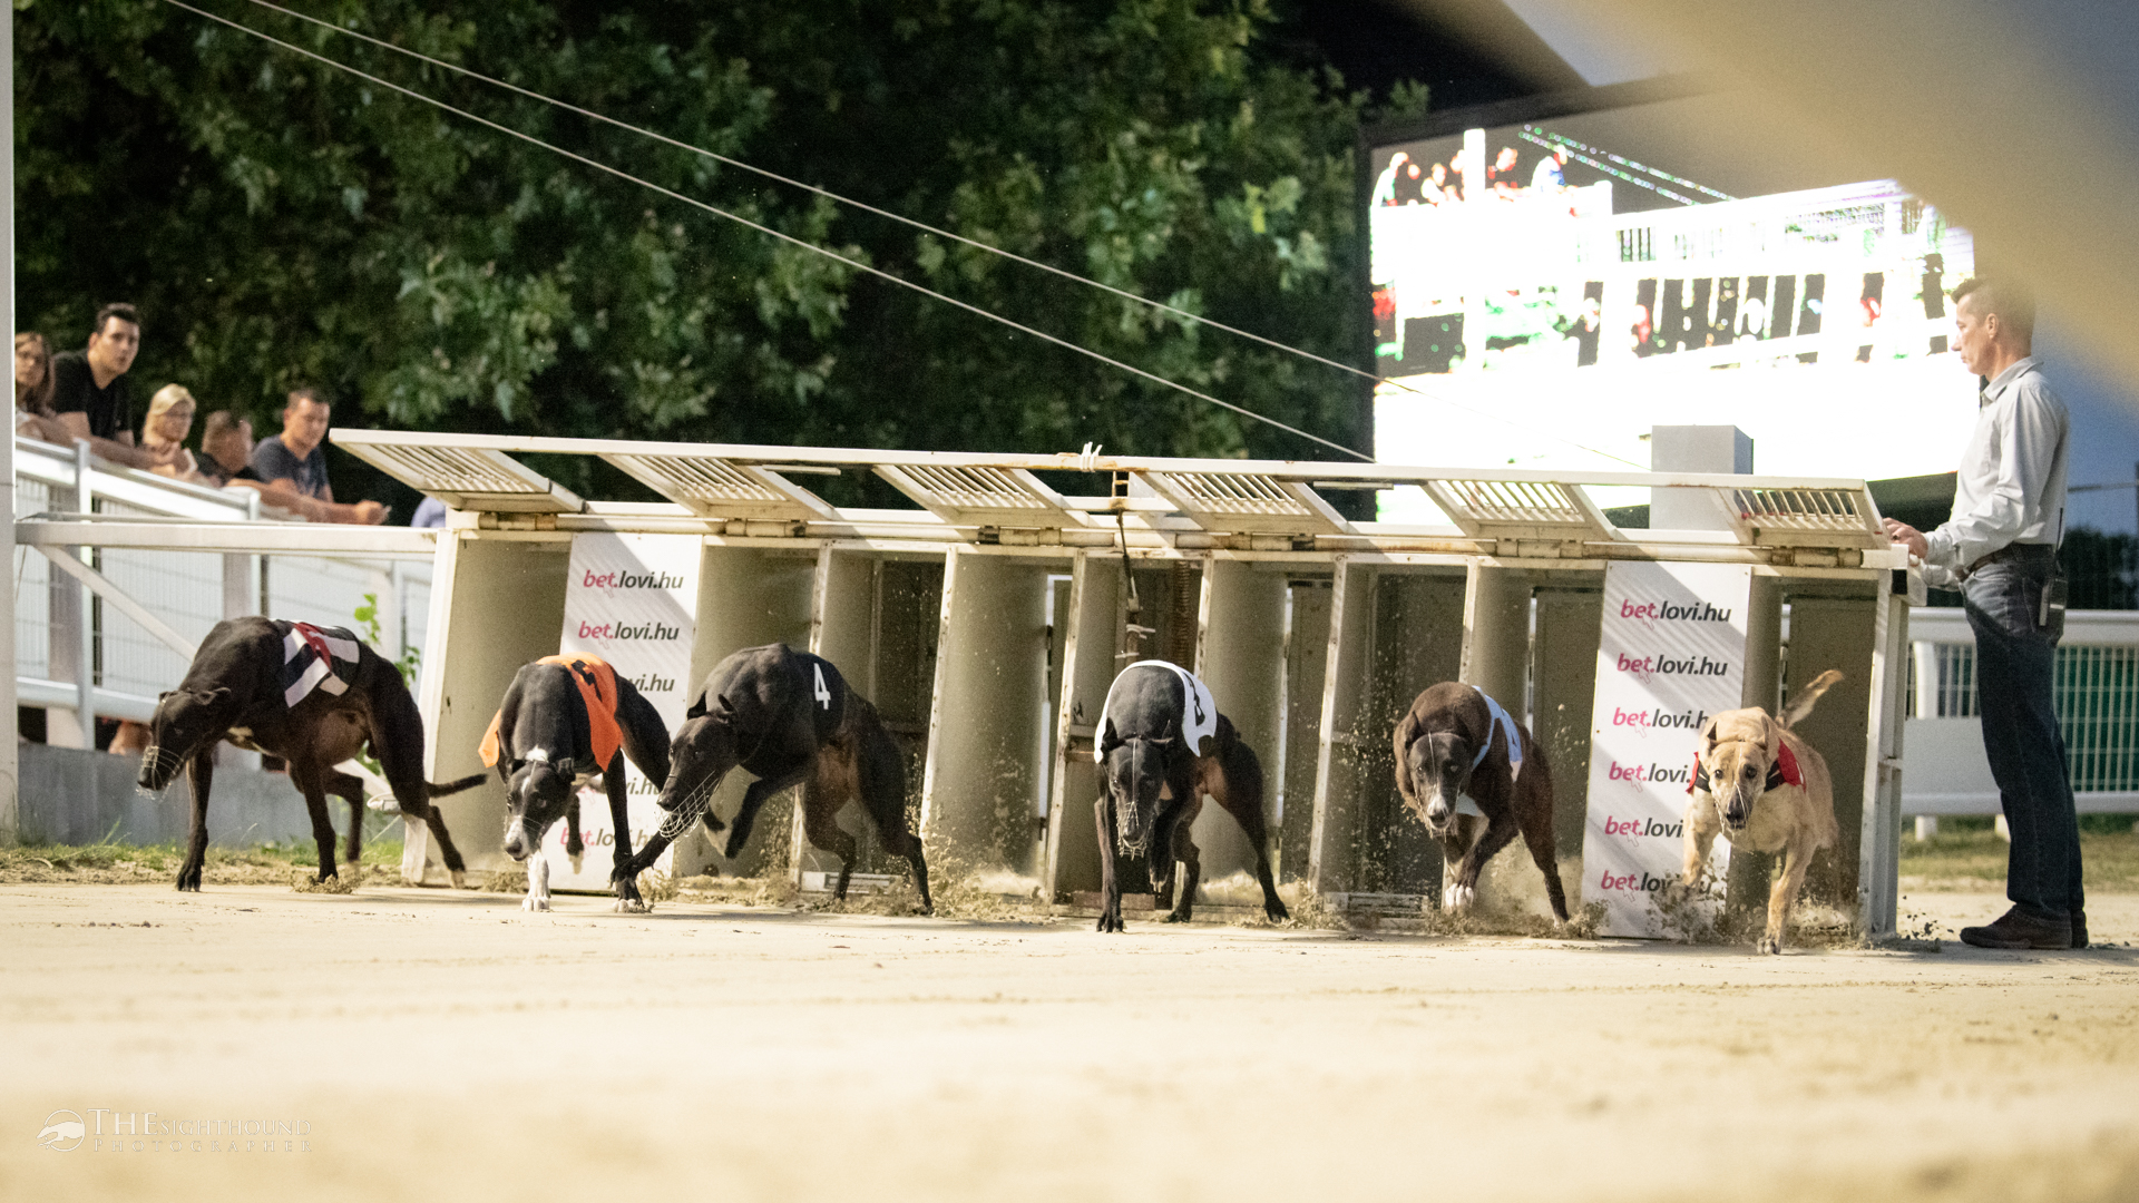
[[[231,19],[1350,445],[1360,387],[240,0]],[[1341,362],[1335,75],[1260,0],[291,0],[338,26]],[[267,420],[1326,454],[158,0],[17,0],[24,328],[143,310],[141,385]],[[351,413],[361,409],[361,417]]]

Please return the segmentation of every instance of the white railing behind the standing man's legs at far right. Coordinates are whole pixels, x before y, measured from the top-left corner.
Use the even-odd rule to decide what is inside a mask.
[[[1976,644],[1961,610],[1912,610],[1902,811],[1998,813],[1983,756]],[[2071,610],[2058,646],[2058,726],[2083,813],[2139,811],[2139,612]]]

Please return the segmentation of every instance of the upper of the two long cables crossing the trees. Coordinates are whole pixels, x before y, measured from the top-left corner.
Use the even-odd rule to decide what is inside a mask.
[[[173,0],[173,2],[175,2],[175,0]],[[1099,289],[1099,291],[1104,291],[1104,293],[1108,293],[1108,295],[1114,295],[1114,298],[1121,298],[1121,300],[1127,300],[1127,302],[1136,302],[1136,304],[1140,304],[1140,306],[1147,306],[1147,308],[1153,308],[1153,310],[1159,310],[1159,313],[1166,313],[1166,315],[1170,315],[1170,317],[1179,317],[1179,319],[1183,319],[1183,321],[1194,321],[1194,323],[1198,323],[1198,325],[1209,325],[1209,328],[1213,328],[1213,330],[1224,330],[1226,334],[1232,334],[1232,336],[1236,336],[1236,338],[1247,338],[1249,342],[1258,342],[1258,345],[1262,345],[1262,347],[1271,347],[1271,349],[1275,349],[1275,351],[1283,351],[1283,353],[1288,353],[1288,355],[1298,355],[1301,360],[1309,360],[1309,362],[1313,362],[1313,364],[1322,364],[1322,366],[1328,366],[1328,368],[1337,368],[1339,372],[1348,372],[1348,375],[1352,375],[1352,377],[1358,377],[1358,379],[1367,379],[1367,381],[1375,381],[1378,385],[1388,385],[1388,387],[1395,387],[1395,390],[1403,390],[1403,392],[1407,392],[1407,394],[1414,394],[1414,396],[1422,396],[1422,398],[1427,398],[1427,400],[1435,400],[1435,402],[1440,402],[1440,405],[1446,405],[1446,407],[1450,407],[1450,409],[1461,409],[1463,413],[1469,413],[1469,415],[1474,415],[1474,417],[1487,417],[1487,420],[1493,420],[1493,422],[1502,422],[1502,424],[1506,424],[1506,426],[1514,426],[1514,428],[1519,428],[1519,430],[1527,430],[1527,428],[1525,428],[1525,426],[1523,426],[1521,422],[1514,422],[1514,420],[1510,420],[1510,417],[1502,417],[1502,415],[1497,415],[1497,413],[1487,413],[1487,411],[1482,411],[1482,409],[1472,409],[1472,407],[1467,407],[1467,405],[1461,405],[1461,402],[1457,402],[1457,400],[1448,400],[1446,396],[1440,396],[1440,394],[1435,394],[1435,392],[1429,392],[1429,390],[1422,390],[1422,387],[1416,387],[1416,385],[1410,385],[1410,383],[1403,383],[1403,381],[1397,381],[1397,379],[1384,379],[1384,377],[1380,377],[1380,375],[1375,375],[1375,372],[1369,372],[1369,370],[1363,370],[1363,368],[1354,368],[1352,364],[1345,364],[1345,362],[1341,362],[1341,360],[1330,360],[1330,357],[1326,357],[1326,355],[1318,355],[1318,353],[1313,353],[1313,351],[1307,351],[1307,349],[1301,349],[1301,347],[1292,347],[1290,342],[1279,342],[1277,338],[1268,338],[1268,336],[1262,336],[1262,334],[1253,334],[1253,332],[1249,332],[1249,330],[1241,330],[1238,325],[1228,325],[1228,323],[1224,323],[1224,321],[1217,321],[1217,319],[1213,319],[1213,317],[1204,317],[1204,315],[1200,315],[1200,313],[1189,313],[1189,310],[1185,310],[1185,308],[1176,308],[1176,306],[1170,306],[1170,304],[1166,304],[1166,302],[1157,302],[1157,300],[1151,300],[1151,298],[1147,298],[1147,295],[1140,295],[1140,293],[1132,293],[1132,291],[1127,291],[1127,289],[1119,289],[1119,287],[1114,287],[1114,285],[1108,285],[1108,283],[1104,283],[1104,280],[1093,280],[1091,276],[1080,276],[1080,274],[1076,274],[1076,272],[1070,272],[1067,268],[1057,268],[1057,265],[1052,265],[1052,263],[1044,263],[1044,261],[1040,261],[1040,259],[1031,259],[1031,257],[1027,257],[1027,255],[1018,255],[1016,250],[1005,250],[1005,248],[1001,248],[1001,246],[992,246],[992,244],[988,244],[988,242],[980,242],[980,240],[975,240],[975,238],[967,238],[967,235],[963,235],[963,233],[952,233],[952,231],[948,231],[948,229],[941,229],[941,227],[935,227],[935,225],[928,225],[928,223],[924,223],[924,220],[920,220],[920,218],[911,218],[911,216],[905,216],[905,214],[898,214],[898,212],[892,212],[892,210],[886,210],[886,208],[879,208],[879,205],[871,205],[868,201],[856,201],[853,197],[845,197],[845,195],[841,195],[841,193],[834,193],[834,191],[830,191],[830,188],[824,188],[824,186],[817,186],[817,184],[806,184],[806,182],[802,182],[802,180],[796,180],[796,178],[791,178],[791,176],[781,176],[779,171],[768,171],[768,169],[764,169],[764,167],[757,167],[757,165],[753,165],[753,163],[744,163],[742,158],[734,158],[734,156],[727,156],[727,154],[721,154],[721,152],[717,152],[717,150],[706,150],[706,148],[702,148],[702,146],[693,146],[693,143],[689,143],[689,141],[682,141],[682,139],[674,139],[674,137],[670,137],[670,135],[665,135],[665,133],[657,133],[657,131],[650,131],[650,128],[644,128],[644,126],[635,126],[635,124],[631,124],[631,122],[625,122],[625,120],[618,120],[618,118],[612,118],[612,116],[607,116],[607,113],[601,113],[601,111],[595,111],[595,109],[586,109],[586,107],[582,107],[582,105],[573,105],[573,103],[569,103],[569,101],[558,101],[556,96],[548,96],[548,94],[543,94],[543,92],[535,92],[533,88],[522,88],[522,86],[518,86],[518,83],[509,83],[509,81],[505,81],[505,79],[498,79],[498,77],[494,77],[494,75],[483,75],[481,71],[475,71],[475,68],[468,68],[468,66],[460,66],[458,62],[447,62],[447,60],[443,60],[443,58],[434,58],[434,56],[428,56],[428,54],[424,54],[424,51],[417,51],[417,49],[409,49],[409,47],[404,47],[404,45],[394,45],[394,43],[389,43],[389,41],[385,41],[385,39],[379,39],[379,36],[372,36],[372,34],[366,34],[366,32],[357,32],[357,30],[344,30],[342,26],[336,26],[334,21],[325,21],[325,19],[321,19],[321,17],[312,17],[312,15],[308,15],[308,13],[299,13],[299,11],[295,11],[295,9],[287,9],[287,6],[282,6],[282,4],[274,4],[272,0],[246,0],[246,2],[248,2],[248,4],[255,4],[255,6],[259,6],[259,9],[267,9],[270,13],[282,13],[284,17],[295,17],[295,19],[299,19],[299,21],[308,21],[308,24],[312,24],[312,26],[319,26],[319,28],[323,28],[323,30],[329,30],[329,32],[334,32],[334,34],[342,34],[342,36],[349,36],[349,39],[357,39],[357,41],[361,41],[361,43],[368,43],[368,45],[374,45],[374,47],[379,47],[379,49],[389,49],[389,51],[394,51],[394,54],[402,54],[402,56],[409,56],[409,58],[413,58],[413,60],[417,60],[417,62],[424,62],[424,64],[430,64],[430,66],[436,66],[436,68],[441,68],[441,71],[451,71],[451,73],[456,73],[456,75],[462,75],[462,77],[466,77],[466,79],[475,79],[475,81],[481,81],[481,83],[490,83],[492,88],[503,88],[503,90],[507,90],[507,92],[513,92],[515,96],[526,96],[526,98],[530,98],[530,101],[539,101],[539,103],[543,103],[543,105],[552,105],[552,107],[558,107],[558,109],[565,109],[567,113],[578,113],[578,116],[582,116],[582,118],[588,118],[588,120],[593,120],[593,122],[601,122],[601,124],[607,124],[607,126],[612,126],[612,128],[620,128],[620,131],[627,131],[627,133],[635,133],[635,135],[640,135],[640,137],[646,137],[646,139],[652,139],[652,141],[659,141],[661,146],[672,146],[672,148],[676,148],[676,150],[684,150],[684,152],[691,152],[691,154],[697,154],[697,156],[704,156],[704,158],[710,158],[710,161],[714,161],[714,163],[723,163],[723,165],[727,165],[727,167],[736,167],[736,169],[740,169],[740,171],[751,171],[753,176],[761,176],[761,178],[766,178],[766,180],[774,180],[774,182],[779,182],[779,184],[787,184],[789,188],[800,188],[800,191],[804,191],[804,193],[811,193],[811,195],[817,195],[817,197],[826,197],[826,199],[830,199],[830,201],[838,201],[838,203],[843,203],[843,205],[849,205],[849,208],[856,208],[856,210],[862,210],[862,212],[866,212],[866,214],[875,214],[875,216],[881,216],[881,218],[888,218],[888,220],[894,220],[894,223],[901,223],[901,225],[907,225],[907,227],[913,227],[913,229],[920,229],[920,231],[924,231],[924,233],[930,233],[930,235],[935,235],[935,238],[945,238],[945,240],[950,240],[950,242],[958,242],[958,244],[963,244],[963,246],[971,246],[971,248],[975,248],[975,250],[984,250],[984,253],[988,253],[988,255],[999,255],[999,257],[1003,257],[1003,259],[1010,259],[1012,263],[1022,263],[1022,265],[1027,265],[1027,268],[1033,268],[1033,270],[1040,270],[1040,272],[1048,272],[1048,274],[1052,274],[1052,276],[1061,276],[1061,278],[1065,278],[1065,280],[1072,280],[1072,283],[1078,283],[1078,285],[1084,285],[1084,287],[1093,287],[1093,289]],[[186,6],[186,4],[180,4],[180,6]],[[199,9],[195,9],[195,11],[199,11]],[[244,28],[244,26],[240,26],[240,28]],[[250,30],[248,30],[248,32],[250,32]],[[265,36],[265,34],[261,34],[261,36]],[[329,62],[332,62],[332,60],[329,60]],[[1609,169],[1606,169],[1606,171],[1609,171]],[[1638,180],[1636,180],[1636,182],[1638,182]],[[1645,184],[1645,186],[1647,186],[1647,184]],[[1698,184],[1692,184],[1692,186],[1698,186]],[[1677,199],[1677,197],[1675,197],[1675,199]],[[1692,203],[1692,201],[1686,201],[1686,203]],[[933,295],[939,295],[939,293],[933,293]],[[945,300],[948,300],[948,298],[945,298]],[[1168,381],[1168,383],[1170,383],[1170,381]],[[1200,396],[1200,394],[1198,394],[1198,396]],[[1224,402],[1219,402],[1219,405],[1224,405]],[[1288,426],[1288,430],[1290,430],[1290,426]],[[1585,443],[1576,443],[1576,441],[1572,441],[1572,439],[1566,439],[1566,437],[1559,437],[1559,435],[1546,435],[1546,437],[1549,437],[1549,439],[1553,439],[1553,441],[1557,441],[1557,443],[1566,443],[1566,445],[1570,445],[1570,447],[1574,447],[1574,450],[1581,450],[1581,452],[1589,452],[1589,454],[1594,454],[1594,456],[1602,456],[1602,458],[1606,458],[1606,460],[1615,460],[1615,462],[1621,462],[1621,465],[1630,465],[1630,467],[1636,467],[1636,469],[1643,469],[1643,471],[1645,471],[1645,465],[1636,465],[1634,460],[1628,460],[1628,458],[1621,458],[1621,456],[1615,456],[1615,454],[1611,454],[1611,452],[1600,452],[1600,450],[1596,450],[1596,447],[1589,447],[1589,445],[1585,445]],[[1313,435],[1309,435],[1309,439],[1313,439]],[[1324,439],[1318,439],[1318,441],[1326,443]],[[1333,445],[1333,443],[1330,443],[1330,445]],[[1354,456],[1356,456],[1358,452],[1350,452],[1350,450],[1348,450],[1348,454],[1354,454]]]

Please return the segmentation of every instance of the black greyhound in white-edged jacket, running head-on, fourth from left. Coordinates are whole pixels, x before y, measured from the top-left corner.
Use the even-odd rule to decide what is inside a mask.
[[[1099,760],[1106,794],[1093,807],[1099,822],[1099,931],[1125,931],[1117,856],[1149,848],[1151,888],[1168,905],[1166,923],[1185,923],[1196,910],[1202,858],[1189,826],[1209,794],[1256,846],[1256,882],[1262,912],[1288,918],[1271,878],[1268,833],[1262,826],[1262,762],[1241,743],[1232,719],[1217,713],[1211,689],[1164,659],[1123,668],[1106,691],[1099,719]],[[1174,858],[1187,869],[1174,895]]]

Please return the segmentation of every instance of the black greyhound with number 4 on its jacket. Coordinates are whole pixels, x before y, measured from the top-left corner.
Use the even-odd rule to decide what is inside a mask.
[[[935,910],[922,841],[907,831],[907,764],[898,745],[883,730],[877,709],[847,687],[830,659],[787,644],[738,651],[706,674],[706,687],[670,743],[670,777],[661,790],[661,809],[670,818],[640,850],[633,871],[652,865],[699,813],[706,816],[706,831],[721,831],[708,803],[738,764],[757,779],[742,794],[727,833],[729,858],[742,854],[766,798],[800,783],[802,833],[817,848],[838,854],[832,897],[847,897],[858,856],[853,837],[836,822],[838,809],[860,801],[883,848],[913,865],[922,914]]]

